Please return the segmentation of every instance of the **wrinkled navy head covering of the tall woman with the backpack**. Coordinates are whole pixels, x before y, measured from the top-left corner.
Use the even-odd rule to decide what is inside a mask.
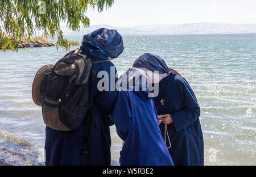
[[[84,35],[81,51],[96,61],[117,58],[123,52],[122,36],[116,30],[100,28]]]

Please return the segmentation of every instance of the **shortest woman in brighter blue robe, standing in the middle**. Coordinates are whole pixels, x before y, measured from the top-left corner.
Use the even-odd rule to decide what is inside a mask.
[[[124,141],[121,166],[172,166],[172,159],[158,126],[158,117],[147,76],[130,68],[119,79],[121,91],[115,103],[113,122],[118,136]]]

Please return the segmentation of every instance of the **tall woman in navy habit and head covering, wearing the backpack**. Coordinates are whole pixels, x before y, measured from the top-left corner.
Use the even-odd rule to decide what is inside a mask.
[[[81,52],[98,61],[93,64],[93,72],[106,71],[110,75],[113,67],[116,74],[117,70],[110,60],[117,58],[123,52],[123,41],[121,35],[115,30],[100,28],[84,36],[82,40]],[[68,54],[74,53],[75,50]],[[67,54],[67,55],[68,55]],[[107,61],[107,62],[103,62]],[[97,83],[102,78],[96,78]],[[94,90],[93,102],[96,104],[96,113],[93,117],[94,125],[92,136],[89,140],[88,151],[85,165],[110,165],[110,129],[113,125],[109,115],[112,115],[114,103],[118,95],[118,90],[110,89],[110,77],[108,90]],[[117,82],[117,78],[115,78]],[[115,83],[114,83],[115,84]],[[89,124],[86,129],[89,129]],[[46,127],[46,165],[81,165],[82,155],[82,135],[84,125],[81,124],[76,130],[61,132]]]

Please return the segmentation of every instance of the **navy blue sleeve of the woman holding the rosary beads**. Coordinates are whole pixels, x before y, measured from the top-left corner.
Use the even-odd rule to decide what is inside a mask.
[[[174,127],[177,132],[199,119],[200,107],[197,103],[196,95],[184,78],[179,77],[176,79],[175,86],[180,92],[183,103],[183,109],[175,113],[171,113],[172,120],[174,121]]]

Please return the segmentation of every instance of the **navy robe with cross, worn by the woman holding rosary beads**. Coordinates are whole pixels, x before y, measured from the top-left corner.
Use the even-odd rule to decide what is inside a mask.
[[[171,141],[169,152],[174,165],[204,165],[200,107],[188,82],[170,73],[159,82],[159,95],[154,98],[154,103],[158,115],[170,114],[173,120],[167,128]],[[160,130],[164,137],[163,123]]]

